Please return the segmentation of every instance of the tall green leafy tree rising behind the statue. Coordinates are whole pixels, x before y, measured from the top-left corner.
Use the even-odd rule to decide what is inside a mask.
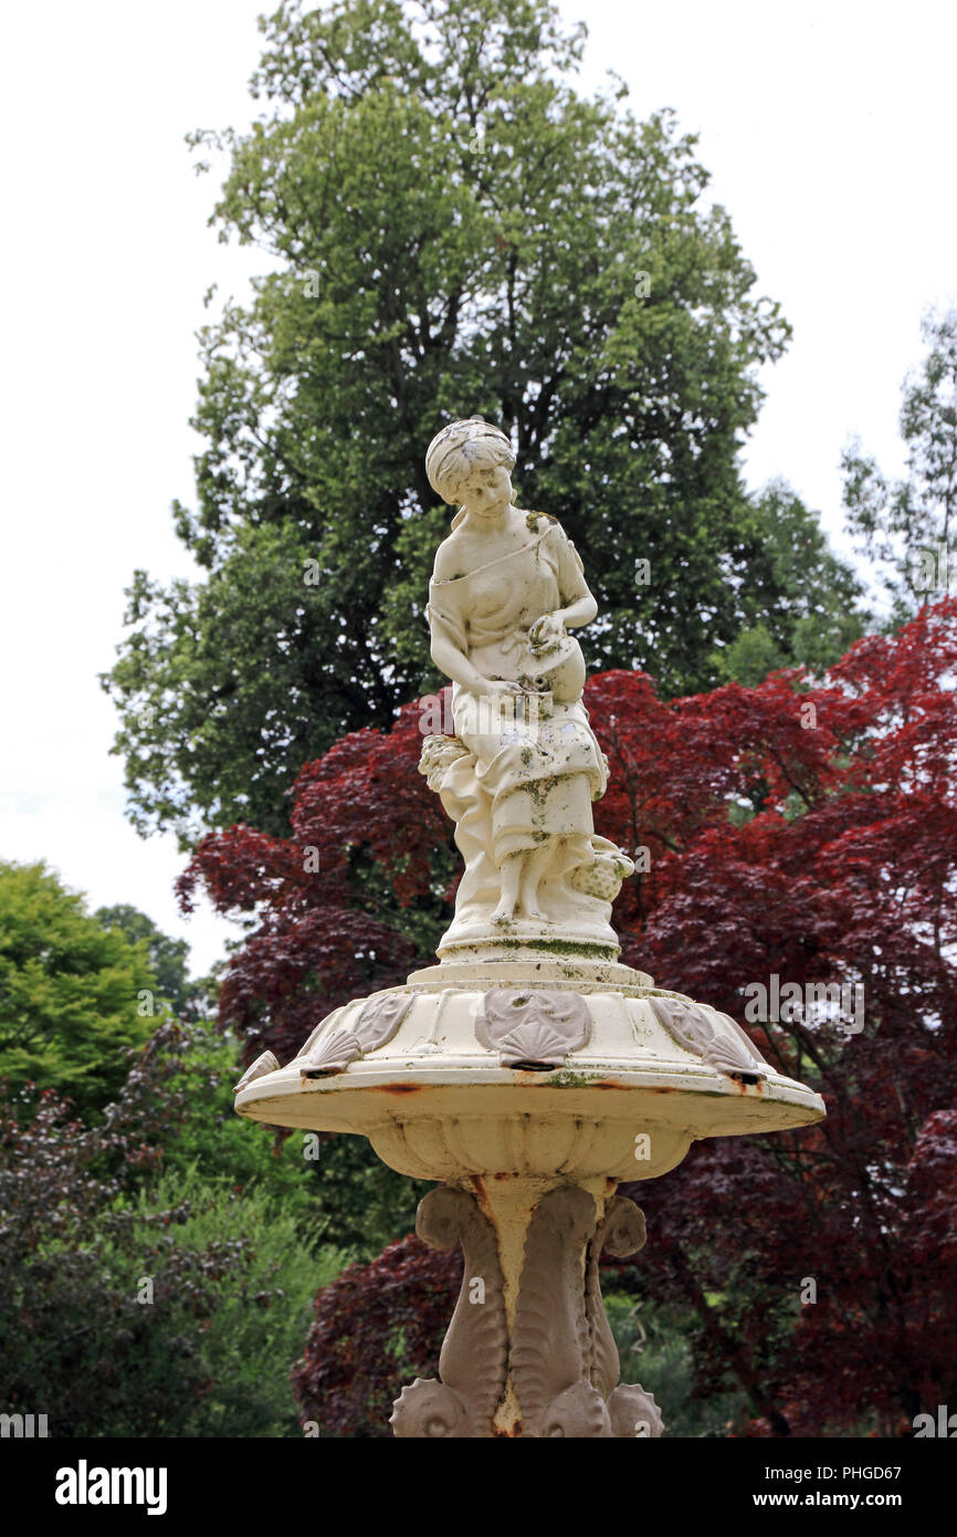
[[[455,415],[512,433],[521,506],[576,541],[596,666],[700,689],[762,622],[790,659],[794,573],[737,461],[788,327],[694,138],[579,95],[548,0],[283,5],[264,32],[263,118],[195,135],[230,157],[221,237],[277,267],[201,338],[175,520],[206,576],[137,572],[104,678],[135,825],[287,833],[301,764],[435,684],[424,450]]]

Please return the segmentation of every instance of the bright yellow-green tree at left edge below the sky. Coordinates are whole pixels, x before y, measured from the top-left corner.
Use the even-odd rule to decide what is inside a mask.
[[[115,1096],[160,1011],[144,941],[106,930],[45,864],[0,862],[0,1077]]]

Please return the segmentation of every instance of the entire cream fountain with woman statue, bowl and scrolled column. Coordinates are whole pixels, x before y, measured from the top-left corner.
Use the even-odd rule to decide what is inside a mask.
[[[396,1436],[659,1436],[651,1394],[619,1385],[599,1290],[602,1251],[645,1242],[619,1182],[825,1108],[728,1014],[618,962],[611,902],[634,867],[594,833],[608,764],[570,633],[596,603],[561,524],[513,506],[513,466],[482,418],[426,458],[459,507],[429,590],[455,736],[427,736],[419,765],[464,859],[439,964],[336,1008],[287,1067],[264,1053],[237,1110],[366,1136],[438,1182],[416,1230],[461,1243],[465,1273],[439,1377],[402,1389]]]

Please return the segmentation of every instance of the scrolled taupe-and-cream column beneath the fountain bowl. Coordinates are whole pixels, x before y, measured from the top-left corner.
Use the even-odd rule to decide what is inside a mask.
[[[618,1385],[601,1297],[604,1250],[634,1254],[645,1222],[611,1180],[551,1183],[513,1176],[442,1185],[419,1205],[433,1248],[461,1242],[462,1290],[439,1379],[404,1388],[392,1416],[410,1437],[661,1436],[654,1399]]]

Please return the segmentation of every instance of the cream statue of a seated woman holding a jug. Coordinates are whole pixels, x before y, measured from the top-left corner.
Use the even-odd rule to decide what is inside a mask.
[[[610,904],[631,861],[596,836],[608,764],[582,704],[568,632],[598,604],[556,518],[519,512],[504,432],[470,417],[429,446],[433,490],[456,504],[429,586],[432,658],[452,679],[455,738],[429,736],[421,772],[465,861],[439,954],[504,939],[614,947]]]

